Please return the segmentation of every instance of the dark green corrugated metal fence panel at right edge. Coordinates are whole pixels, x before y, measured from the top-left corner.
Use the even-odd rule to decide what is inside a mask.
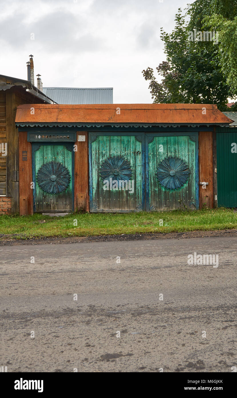
[[[223,127],[216,133],[218,207],[237,207],[237,129]]]

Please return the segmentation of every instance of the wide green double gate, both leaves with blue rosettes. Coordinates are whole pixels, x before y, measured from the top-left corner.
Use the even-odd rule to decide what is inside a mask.
[[[89,133],[89,184],[92,212],[198,209],[198,133]]]

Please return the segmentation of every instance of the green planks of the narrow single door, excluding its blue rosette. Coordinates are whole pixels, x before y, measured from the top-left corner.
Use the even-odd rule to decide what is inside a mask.
[[[73,211],[74,201],[74,156],[72,156],[73,143],[63,142],[58,144],[40,143],[32,144],[33,182],[33,211]],[[62,164],[69,172],[70,182],[67,188],[59,193],[51,194],[41,189],[37,182],[39,169],[49,163]]]

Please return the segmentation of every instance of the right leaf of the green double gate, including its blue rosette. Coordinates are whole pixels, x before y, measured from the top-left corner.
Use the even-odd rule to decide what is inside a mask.
[[[198,134],[146,134],[146,210],[198,209]]]

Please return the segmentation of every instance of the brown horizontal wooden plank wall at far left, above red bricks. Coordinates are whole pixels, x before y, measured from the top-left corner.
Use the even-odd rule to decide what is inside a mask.
[[[6,91],[0,91],[0,146],[7,142],[6,138]],[[0,153],[0,195],[6,195],[7,158]]]

